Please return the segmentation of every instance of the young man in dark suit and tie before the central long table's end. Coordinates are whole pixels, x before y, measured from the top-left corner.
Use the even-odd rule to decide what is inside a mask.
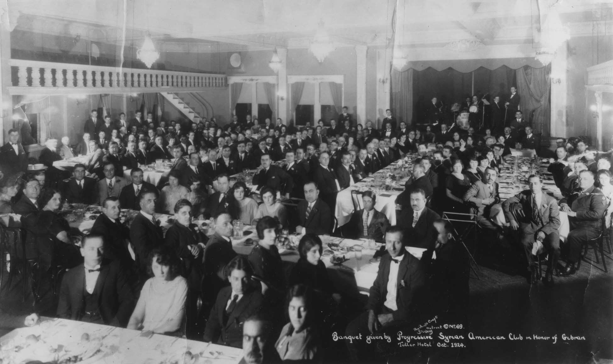
[[[389,227],[385,214],[375,210],[377,196],[373,191],[362,193],[362,210],[354,211],[347,227],[345,237],[350,239],[368,238],[383,241],[383,236]],[[345,227],[345,226],[343,226]]]

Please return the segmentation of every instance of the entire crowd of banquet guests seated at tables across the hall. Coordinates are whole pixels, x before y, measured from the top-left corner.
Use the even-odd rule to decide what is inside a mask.
[[[98,123],[93,110],[76,149],[67,138],[61,146],[47,141],[39,158],[45,172],[24,174],[23,164],[3,167],[1,222],[25,231],[26,258],[37,260],[42,275],[67,270],[57,316],[243,347],[248,362],[340,360],[340,352],[354,362],[385,357],[400,352],[385,344],[372,350],[364,341],[345,341],[346,351],[339,350],[332,332],[392,333],[441,312],[462,320],[470,266],[454,228],[441,219],[443,211],[474,213],[482,229],[500,238],[517,236],[531,283],[540,278],[533,248],[546,249],[549,286],[558,259],[566,260],[560,275],[575,273],[582,245],[611,215],[610,156],[583,140],[560,140],[550,161],[565,194],[558,207],[536,175],[528,179],[528,190],[500,200],[500,166],[514,148],[506,141],[518,137],[511,128],[499,140],[488,130],[481,137],[448,131],[444,124],[436,134],[430,126],[421,134],[405,123],[377,130],[370,121],[352,126],[344,108],[340,123],[332,120],[328,128],[318,123],[299,130],[281,119],[276,126],[270,119],[260,125],[250,117],[239,123],[235,117],[224,127],[211,120],[184,131],[181,123],[157,124],[151,114],[147,120],[136,115],[131,121],[121,115],[115,123],[107,116]],[[524,142],[533,137],[529,126],[524,132]],[[17,163],[23,147],[17,131],[9,137],[17,148],[3,146],[2,155]],[[428,150],[428,143],[435,143],[435,150]],[[364,208],[336,229],[338,192],[407,154],[417,159],[392,211],[397,224],[390,226],[386,214],[375,209],[377,195],[365,191],[359,197]],[[86,162],[71,171],[53,166],[79,155]],[[157,159],[172,167],[154,185],[144,181],[142,167]],[[282,159],[283,166],[277,163]],[[245,169],[256,169],[254,191],[243,181],[230,187],[229,176]],[[123,175],[128,170],[130,182]],[[299,200],[292,213],[283,197]],[[86,235],[71,229],[61,213],[75,203],[101,207]],[[126,221],[122,209],[137,214]],[[562,257],[560,211],[571,225]],[[166,233],[160,213],[173,215]],[[207,236],[194,218],[210,219],[215,233]],[[234,221],[256,227],[258,241],[248,256],[232,248]],[[300,259],[289,274],[276,246],[286,229],[303,235]],[[321,260],[326,247],[318,235],[339,230],[347,238],[384,243],[367,311],[347,309],[359,300],[337,290]],[[422,259],[407,246],[424,249]]]

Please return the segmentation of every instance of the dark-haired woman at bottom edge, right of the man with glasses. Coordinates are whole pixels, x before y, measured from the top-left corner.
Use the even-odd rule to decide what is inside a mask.
[[[315,300],[313,291],[306,284],[297,284],[287,292],[285,312],[289,322],[275,344],[282,362],[321,362],[323,348]]]

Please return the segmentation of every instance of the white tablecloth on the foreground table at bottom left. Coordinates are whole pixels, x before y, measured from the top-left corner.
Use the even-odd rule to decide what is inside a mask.
[[[99,354],[94,354],[96,356],[91,357],[88,363],[183,363],[182,357],[187,351],[197,355],[194,363],[230,364],[240,362],[243,357],[243,350],[236,347],[158,334],[148,338],[141,336],[141,333],[138,330],[129,330],[127,328],[66,319],[45,318],[42,325],[17,328],[2,336],[0,341],[7,343],[9,340],[12,340],[12,343],[19,345],[25,343],[25,338],[28,335],[40,335],[40,341],[33,346],[21,349],[20,352],[12,351],[10,355],[15,355],[13,358],[15,363],[36,359],[39,359],[41,362],[50,362],[51,358],[39,356],[40,354],[31,354],[32,349],[39,348],[39,352],[46,349],[48,353],[48,347],[56,348],[58,345],[80,347],[80,340],[83,334],[89,335],[89,343],[96,342],[96,339],[101,339],[102,343]],[[64,351],[60,352],[61,355],[63,353]],[[179,360],[171,360],[174,358]],[[6,360],[6,362],[9,363],[11,361]]]

